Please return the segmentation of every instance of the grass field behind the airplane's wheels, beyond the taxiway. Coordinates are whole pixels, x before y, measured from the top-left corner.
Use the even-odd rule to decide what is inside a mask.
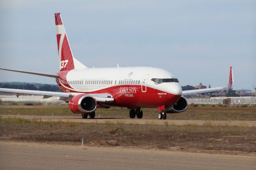
[[[158,119],[157,109],[143,108],[143,118]],[[73,114],[68,105],[49,106],[21,106],[1,105],[0,115],[54,115],[54,116],[81,116]],[[97,109],[96,117],[129,117],[129,109],[112,107],[110,109]],[[188,120],[243,120],[256,121],[256,107],[188,107],[183,113],[168,114],[167,119]]]

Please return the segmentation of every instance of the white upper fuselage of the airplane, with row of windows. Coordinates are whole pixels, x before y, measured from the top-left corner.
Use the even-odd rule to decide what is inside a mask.
[[[173,79],[176,77],[164,69],[154,67],[73,69],[68,71],[66,75],[66,80],[70,87],[82,93],[98,91],[117,85],[144,85],[174,95],[182,94],[180,83],[170,82],[158,84],[151,81],[152,78]]]

